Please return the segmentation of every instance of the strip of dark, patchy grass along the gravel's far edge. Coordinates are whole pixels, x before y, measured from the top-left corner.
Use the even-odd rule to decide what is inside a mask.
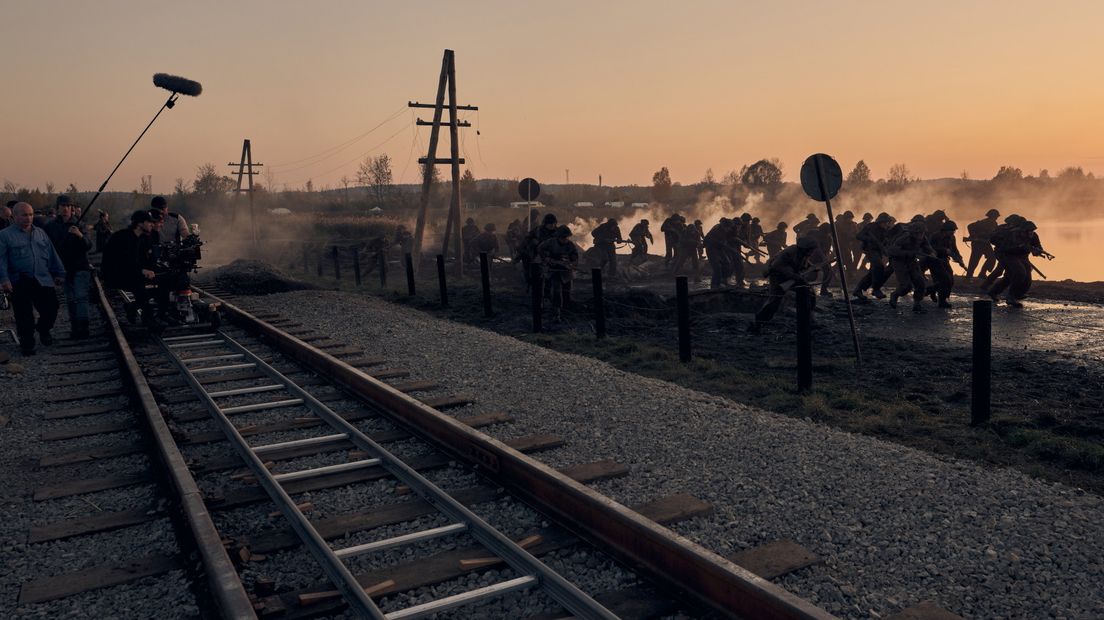
[[[423,275],[428,278],[427,274]],[[317,284],[332,287],[335,281],[322,279]],[[404,287],[405,284],[399,281],[392,286]],[[343,288],[352,287],[347,281]],[[420,280],[417,297],[408,298],[404,290],[381,291],[378,286],[370,285],[357,292],[383,297],[554,351],[602,360],[626,372],[737,403],[935,453],[1010,466],[1032,475],[1104,492],[1104,446],[1100,441],[1062,435],[1061,425],[1049,413],[1016,411],[1015,415],[997,416],[985,427],[973,428],[968,424],[968,387],[964,392],[956,385],[946,395],[938,396],[931,393],[931,388],[910,381],[907,388],[900,389],[893,387],[899,378],[885,371],[880,375],[868,373],[873,378],[858,385],[852,373],[841,372],[848,362],[817,359],[814,389],[799,393],[794,364],[784,356],[767,355],[755,365],[742,365],[718,360],[709,352],[696,352],[694,359],[683,364],[677,349],[654,334],[617,334],[597,340],[592,332],[577,325],[558,333],[531,333],[528,309],[519,300],[496,298],[500,314],[487,319],[482,316],[477,282],[449,282],[448,309],[439,308],[435,279]],[[902,354],[910,352],[910,348],[900,342],[888,342],[885,348]],[[931,381],[935,381],[936,372],[932,371]]]

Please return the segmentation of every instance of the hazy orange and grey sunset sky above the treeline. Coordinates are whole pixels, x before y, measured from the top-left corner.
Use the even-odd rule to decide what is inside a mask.
[[[2,7],[0,177],[18,185],[95,189],[163,103],[158,72],[204,93],[162,115],[109,189],[229,172],[243,138],[277,186],[338,186],[382,152],[411,182],[428,132],[405,104],[433,100],[446,47],[460,103],[480,107],[463,140],[477,178],[649,184],[667,165],[693,183],[777,157],[793,181],[816,151],[875,177],[1104,173],[1101,2]]]

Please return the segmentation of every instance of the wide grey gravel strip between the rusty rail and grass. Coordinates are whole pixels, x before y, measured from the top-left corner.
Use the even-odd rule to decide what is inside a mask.
[[[683,389],[370,298],[240,298],[479,395],[498,437],[559,434],[554,464],[616,459],[595,484],[634,504],[675,492],[715,513],[676,530],[726,555],[788,537],[825,558],[784,587],[848,618],[923,600],[967,618],[1104,617],[1104,501]]]

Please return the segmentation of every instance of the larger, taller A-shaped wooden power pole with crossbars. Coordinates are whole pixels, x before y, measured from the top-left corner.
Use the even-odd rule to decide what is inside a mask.
[[[445,93],[448,93],[448,121],[442,121],[445,111]],[[456,54],[452,50],[445,50],[445,57],[440,63],[440,78],[437,83],[437,100],[435,104],[420,104],[408,101],[412,108],[433,109],[433,120],[426,121],[417,119],[418,126],[429,127],[429,150],[424,158],[418,158],[418,163],[424,165],[422,177],[422,205],[417,214],[417,223],[414,226],[414,256],[422,256],[422,239],[425,235],[425,216],[429,206],[429,191],[433,186],[434,165],[448,163],[453,170],[453,195],[448,205],[448,218],[445,223],[445,237],[442,243],[442,254],[448,256],[449,240],[453,240],[453,249],[456,256],[456,274],[461,275],[464,269],[464,242],[460,238],[460,222],[464,209],[460,200],[460,141],[459,128],[471,127],[471,124],[457,118],[457,110],[478,110],[476,106],[460,106],[456,104]],[[449,157],[437,157],[437,140],[440,137],[440,127],[448,126]],[[455,237],[453,233],[456,233]]]

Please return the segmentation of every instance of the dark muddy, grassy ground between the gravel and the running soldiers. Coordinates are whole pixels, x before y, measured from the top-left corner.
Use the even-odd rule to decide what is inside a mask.
[[[551,349],[598,357],[657,378],[726,396],[782,414],[874,435],[932,452],[1009,466],[1050,480],[1104,493],[1104,284],[1037,285],[1022,310],[994,312],[992,418],[972,427],[970,307],[956,297],[951,310],[925,303],[915,316],[907,303],[854,307],[863,364],[857,367],[846,306],[838,289],[820,298],[814,332],[814,388],[796,391],[796,340],[792,302],[762,334],[745,332],[762,301],[762,281],[751,291],[691,297],[694,359],[678,360],[673,279],[655,258],[630,281],[606,282],[608,338],[597,340],[590,278],[575,280],[573,310],[556,321],[544,314],[544,332],[532,333],[520,271],[493,266],[495,316],[482,316],[478,274],[449,278],[449,308],[442,309],[436,270],[426,264],[417,295],[405,293],[402,267],[386,286],[376,274],[353,287],[311,271],[298,277],[325,287],[383,296],[450,320],[514,335]],[[968,281],[959,282],[968,291]],[[756,286],[758,285],[758,286]],[[1062,300],[1065,297],[1074,300]],[[1049,299],[1038,299],[1045,295]],[[1085,302],[1090,300],[1093,302]],[[539,384],[539,377],[534,377]]]

